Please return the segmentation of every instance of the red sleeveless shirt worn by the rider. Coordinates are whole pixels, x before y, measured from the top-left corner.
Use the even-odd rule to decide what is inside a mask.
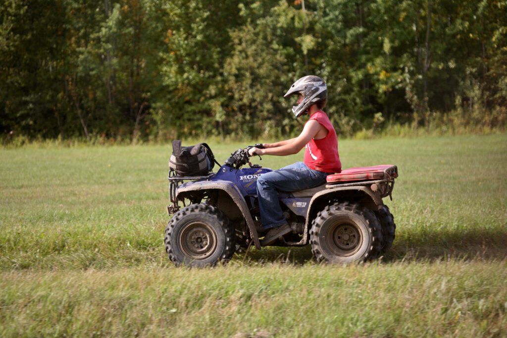
[[[308,121],[310,120],[315,120],[323,125],[328,129],[328,134],[323,139],[311,139],[306,144],[304,163],[309,168],[319,172],[340,173],[342,171],[342,164],[338,155],[338,140],[335,128],[331,124],[328,115],[319,110],[310,116]]]

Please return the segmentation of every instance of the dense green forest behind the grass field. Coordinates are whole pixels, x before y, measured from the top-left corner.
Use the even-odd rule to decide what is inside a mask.
[[[507,1],[1,0],[0,141],[341,136],[507,125]]]

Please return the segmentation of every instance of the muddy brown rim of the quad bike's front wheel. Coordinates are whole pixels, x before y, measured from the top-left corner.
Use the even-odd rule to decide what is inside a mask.
[[[206,223],[191,222],[185,224],[179,234],[182,252],[195,260],[206,259],[216,249],[216,233]]]

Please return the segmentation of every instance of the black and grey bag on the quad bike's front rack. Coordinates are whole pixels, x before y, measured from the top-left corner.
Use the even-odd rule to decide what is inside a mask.
[[[215,164],[211,148],[205,143],[182,147],[182,141],[172,141],[172,155],[169,167],[177,176],[204,176]]]

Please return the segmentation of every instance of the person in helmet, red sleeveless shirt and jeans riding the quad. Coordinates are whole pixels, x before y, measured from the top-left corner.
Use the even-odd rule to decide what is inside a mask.
[[[250,156],[286,156],[306,148],[304,162],[296,162],[263,174],[257,180],[262,225],[268,230],[261,242],[263,246],[292,231],[283,217],[277,190],[313,188],[323,184],[328,175],[341,172],[336,131],[328,115],[322,111],[328,98],[324,80],[314,75],[305,76],[296,81],[283,97],[294,94],[299,95],[298,105],[292,108],[294,115],[309,115],[301,134],[294,139],[265,143],[265,149],[251,148],[248,151]]]

